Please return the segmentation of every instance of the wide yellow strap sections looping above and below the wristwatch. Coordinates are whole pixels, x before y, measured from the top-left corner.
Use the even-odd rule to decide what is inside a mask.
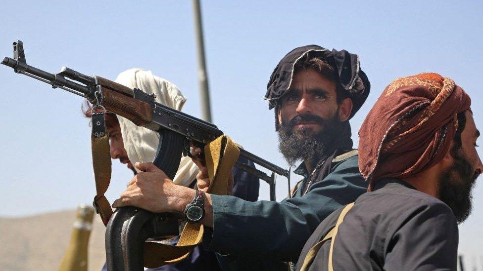
[[[210,180],[210,194],[227,194],[228,177],[240,150],[225,135],[220,136],[204,148],[206,167]],[[203,237],[203,225],[187,223],[176,246],[145,242],[144,263],[147,268],[157,268],[185,259]]]

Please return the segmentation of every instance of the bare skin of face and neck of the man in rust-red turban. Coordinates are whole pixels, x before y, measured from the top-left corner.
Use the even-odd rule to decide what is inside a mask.
[[[467,160],[467,162],[472,166],[476,175],[483,172],[483,164],[480,156],[476,150],[476,141],[480,132],[476,128],[475,120],[473,115],[469,112],[465,112],[466,125],[461,133],[461,151]],[[454,146],[454,141],[451,143],[449,150]],[[438,180],[440,177],[440,172],[444,172],[454,164],[454,157],[451,155],[450,151],[444,156],[444,158],[433,167],[418,173],[414,176],[407,177],[406,182],[414,186],[417,190],[430,194],[436,198],[438,197]]]

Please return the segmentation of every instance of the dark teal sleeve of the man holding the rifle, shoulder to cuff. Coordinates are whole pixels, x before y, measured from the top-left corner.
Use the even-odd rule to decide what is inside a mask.
[[[248,202],[211,195],[213,229],[203,238],[208,250],[296,261],[311,232],[330,213],[367,189],[357,157],[340,162],[302,197],[282,202]]]

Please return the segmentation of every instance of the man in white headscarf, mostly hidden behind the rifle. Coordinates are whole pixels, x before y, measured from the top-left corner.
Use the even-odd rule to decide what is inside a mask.
[[[146,93],[154,93],[156,102],[179,111],[182,110],[187,100],[175,84],[161,77],[154,76],[151,71],[130,69],[120,73],[115,81],[130,88],[142,89]],[[91,110],[92,107],[86,101],[83,110],[84,114],[90,117]],[[109,147],[112,159],[119,159],[135,175],[138,171],[133,164],[154,159],[159,142],[159,133],[137,126],[129,119],[109,112],[105,115],[105,124],[109,133]],[[253,162],[243,157],[240,157],[239,162],[254,166]],[[199,169],[192,159],[184,156],[181,158],[180,166],[173,182],[180,186],[196,188],[196,175],[198,172]],[[234,184],[231,194],[248,201],[257,200],[260,185],[258,178],[238,168],[233,168],[232,175]],[[182,229],[182,227],[180,228]],[[172,244],[175,245],[178,239],[178,237],[174,238]],[[107,270],[105,265],[102,270]],[[205,251],[198,246],[183,261],[155,270],[219,270],[219,265],[213,252]]]

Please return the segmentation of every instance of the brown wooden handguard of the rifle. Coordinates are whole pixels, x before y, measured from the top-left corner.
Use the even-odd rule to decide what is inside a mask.
[[[107,111],[123,116],[138,126],[145,126],[152,121],[151,107],[149,104],[104,86],[102,86],[101,92],[101,105]]]

